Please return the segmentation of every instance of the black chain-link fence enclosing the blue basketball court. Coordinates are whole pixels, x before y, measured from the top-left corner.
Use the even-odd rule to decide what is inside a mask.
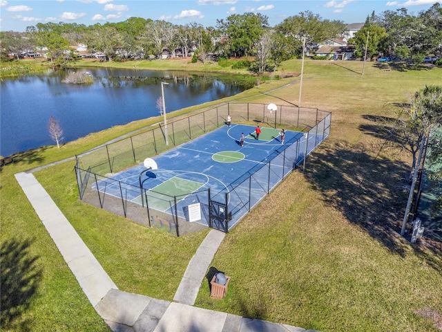
[[[113,174],[139,165],[144,159],[161,154],[171,146],[181,145],[224,126],[228,115],[232,117],[232,122],[258,122],[269,127],[304,132],[304,135],[300,139],[293,138],[286,142],[273,152],[270,161],[258,163],[223,192],[211,192],[209,189],[184,196],[168,196],[112,178]],[[267,104],[221,104],[190,116],[169,120],[169,146],[166,145],[164,125],[155,124],[146,131],[76,156],[79,197],[86,203],[177,237],[198,232],[207,226],[228,232],[290,172],[305,163],[311,151],[329,136],[330,126],[331,113],[318,109],[278,106],[276,111],[270,113]],[[119,194],[115,195],[115,192]],[[136,196],[140,196],[140,202],[132,199]],[[163,206],[171,207],[171,213],[155,210],[159,200]],[[206,225],[189,222],[186,201],[200,202],[202,223]],[[211,201],[221,202],[226,207],[222,222],[219,218],[216,222],[211,219]]]

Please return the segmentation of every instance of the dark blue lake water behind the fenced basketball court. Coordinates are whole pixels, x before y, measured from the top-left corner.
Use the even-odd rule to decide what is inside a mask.
[[[66,84],[72,71],[92,75],[93,84]],[[157,100],[164,85],[166,113],[236,95],[253,82],[231,75],[145,71],[142,69],[71,68],[0,82],[0,154],[55,145],[48,133],[54,116],[64,131],[62,142],[118,124],[159,116]]]

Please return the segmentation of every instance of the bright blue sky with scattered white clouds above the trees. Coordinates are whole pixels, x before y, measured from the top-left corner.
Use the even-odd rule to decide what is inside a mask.
[[[164,19],[173,24],[196,22],[203,26],[216,26],[217,19],[244,12],[260,12],[269,17],[275,26],[286,17],[310,10],[323,19],[340,20],[346,24],[363,23],[373,10],[381,14],[385,10],[407,8],[416,15],[429,9],[434,0],[0,0],[0,30],[20,31],[37,23],[64,22],[90,26],[106,22],[125,21],[129,17]]]

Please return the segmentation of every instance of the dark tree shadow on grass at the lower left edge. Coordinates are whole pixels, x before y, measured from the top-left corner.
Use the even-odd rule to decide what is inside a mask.
[[[18,322],[29,308],[42,278],[42,269],[37,264],[39,257],[30,253],[32,242],[11,239],[1,244],[1,329],[32,330],[31,320]]]

